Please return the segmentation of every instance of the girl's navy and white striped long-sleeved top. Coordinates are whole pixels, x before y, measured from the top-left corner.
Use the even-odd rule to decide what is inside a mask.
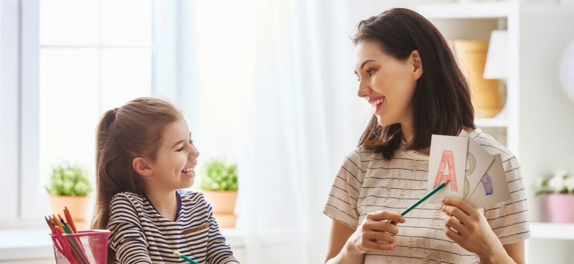
[[[236,261],[203,194],[176,190],[176,195],[175,222],[164,218],[143,194],[114,196],[107,229],[113,232],[115,263],[187,263],[173,255],[174,250],[202,264]]]

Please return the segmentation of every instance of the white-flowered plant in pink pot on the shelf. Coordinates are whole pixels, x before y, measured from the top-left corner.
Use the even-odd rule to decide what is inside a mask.
[[[546,207],[550,222],[574,223],[574,176],[567,171],[559,171],[552,176],[538,178],[536,195],[546,195]]]

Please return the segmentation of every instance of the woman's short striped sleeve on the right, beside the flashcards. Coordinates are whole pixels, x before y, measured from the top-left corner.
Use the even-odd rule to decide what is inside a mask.
[[[516,243],[530,238],[526,192],[522,172],[514,155],[501,153],[502,165],[510,190],[510,200],[484,208],[484,217],[502,242],[502,245]]]

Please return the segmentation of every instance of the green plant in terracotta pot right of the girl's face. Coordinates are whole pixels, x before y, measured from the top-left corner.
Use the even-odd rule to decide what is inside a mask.
[[[237,187],[237,164],[228,164],[224,159],[211,159],[201,167],[199,189],[211,204],[220,227],[235,227]]]

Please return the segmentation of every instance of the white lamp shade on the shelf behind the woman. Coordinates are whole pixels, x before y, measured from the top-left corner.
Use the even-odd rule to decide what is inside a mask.
[[[492,30],[490,33],[483,77],[486,80],[508,78],[508,33],[506,30]]]

